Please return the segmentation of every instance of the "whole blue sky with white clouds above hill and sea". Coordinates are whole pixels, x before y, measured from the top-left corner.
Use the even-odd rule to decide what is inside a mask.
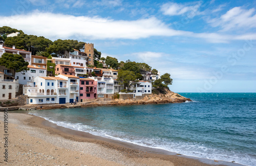
[[[169,73],[174,92],[256,92],[256,1],[1,1],[0,26],[94,43]]]

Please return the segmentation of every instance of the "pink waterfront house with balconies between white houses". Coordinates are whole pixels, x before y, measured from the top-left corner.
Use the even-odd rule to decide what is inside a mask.
[[[80,78],[79,85],[80,102],[97,98],[97,81],[90,78]]]

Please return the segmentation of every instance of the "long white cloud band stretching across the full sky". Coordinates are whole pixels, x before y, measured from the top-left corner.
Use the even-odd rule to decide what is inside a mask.
[[[256,34],[225,35],[217,33],[193,33],[171,29],[156,17],[137,20],[113,20],[101,17],[73,16],[42,13],[38,10],[24,15],[2,16],[0,26],[11,26],[27,34],[45,36],[51,40],[69,39],[141,39],[159,37],[192,37],[212,43],[227,43],[230,40],[255,40]]]

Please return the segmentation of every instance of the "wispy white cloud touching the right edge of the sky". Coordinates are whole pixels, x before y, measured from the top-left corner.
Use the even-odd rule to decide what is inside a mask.
[[[222,32],[237,29],[250,29],[256,27],[255,9],[245,10],[241,7],[234,7],[220,18],[208,20],[208,23],[213,27],[220,26]]]

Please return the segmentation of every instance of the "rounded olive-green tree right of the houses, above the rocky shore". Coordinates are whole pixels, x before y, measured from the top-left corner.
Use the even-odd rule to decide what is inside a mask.
[[[135,81],[136,75],[133,71],[120,70],[117,75],[117,80],[120,81],[120,85],[123,85],[125,88],[130,89],[130,81]]]

